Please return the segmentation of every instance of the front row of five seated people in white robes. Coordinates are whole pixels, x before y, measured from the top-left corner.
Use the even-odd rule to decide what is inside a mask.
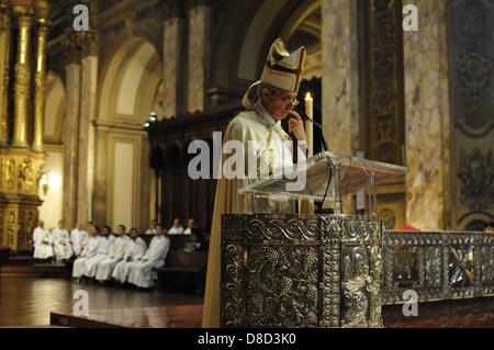
[[[165,264],[169,249],[170,239],[159,225],[149,248],[135,228],[128,237],[125,227],[120,225],[115,238],[109,226],[99,235],[98,227],[92,225],[86,247],[74,261],[72,278],[78,281],[82,276],[100,282],[115,280],[148,289],[157,279],[153,269]]]

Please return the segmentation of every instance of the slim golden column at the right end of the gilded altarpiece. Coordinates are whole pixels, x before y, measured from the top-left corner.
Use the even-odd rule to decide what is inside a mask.
[[[47,1],[37,1],[38,15],[36,71],[34,76],[34,136],[33,149],[43,151],[43,122],[45,118],[45,83],[46,83],[46,39],[48,36],[47,18],[49,11]]]

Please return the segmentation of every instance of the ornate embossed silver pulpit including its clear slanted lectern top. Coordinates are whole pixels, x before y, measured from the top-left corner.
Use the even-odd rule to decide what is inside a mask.
[[[299,163],[306,185],[274,176],[240,189],[287,201],[328,200],[336,214],[222,217],[222,327],[381,327],[381,242],[375,184],[405,173],[392,165],[318,154]],[[367,189],[370,215],[343,213]]]

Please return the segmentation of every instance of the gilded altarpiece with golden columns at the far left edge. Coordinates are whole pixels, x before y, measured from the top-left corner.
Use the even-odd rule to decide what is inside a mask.
[[[32,250],[43,151],[46,0],[0,1],[0,245]]]

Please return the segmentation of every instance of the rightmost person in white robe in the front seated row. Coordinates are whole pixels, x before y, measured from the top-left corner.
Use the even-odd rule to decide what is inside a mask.
[[[170,239],[165,236],[165,230],[160,225],[156,227],[156,236],[153,238],[149,249],[139,261],[130,266],[128,283],[138,287],[151,287],[155,285],[157,274],[153,268],[160,268],[165,264],[165,259],[170,249]]]

